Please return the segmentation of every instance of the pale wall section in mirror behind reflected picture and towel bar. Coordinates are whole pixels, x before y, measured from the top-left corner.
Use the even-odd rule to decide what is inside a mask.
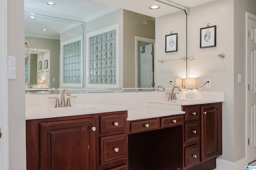
[[[170,32],[178,33],[178,51],[165,53],[165,36]],[[184,11],[175,12],[156,18],[156,87],[170,87],[169,79],[186,77],[186,14]],[[158,62],[159,59],[178,59]]]

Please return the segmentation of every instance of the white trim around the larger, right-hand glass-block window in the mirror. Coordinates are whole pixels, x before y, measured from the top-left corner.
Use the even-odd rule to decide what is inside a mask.
[[[90,37],[116,30],[116,84],[90,84]],[[86,88],[120,88],[120,25],[114,24],[86,34]]]

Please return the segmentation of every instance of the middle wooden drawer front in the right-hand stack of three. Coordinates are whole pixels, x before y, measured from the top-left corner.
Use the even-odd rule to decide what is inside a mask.
[[[185,142],[199,139],[199,122],[185,123]]]

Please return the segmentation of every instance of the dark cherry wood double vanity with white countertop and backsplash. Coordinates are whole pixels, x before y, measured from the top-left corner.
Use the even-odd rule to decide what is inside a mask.
[[[71,96],[26,95],[27,170],[212,170],[222,154],[224,93]]]

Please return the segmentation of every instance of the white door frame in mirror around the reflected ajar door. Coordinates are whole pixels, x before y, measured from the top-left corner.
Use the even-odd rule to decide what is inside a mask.
[[[155,48],[154,46],[155,46],[156,40],[151,38],[135,36],[135,88],[138,88],[138,42],[153,43],[154,44],[153,48]],[[155,55],[154,55],[154,58],[155,58]]]

